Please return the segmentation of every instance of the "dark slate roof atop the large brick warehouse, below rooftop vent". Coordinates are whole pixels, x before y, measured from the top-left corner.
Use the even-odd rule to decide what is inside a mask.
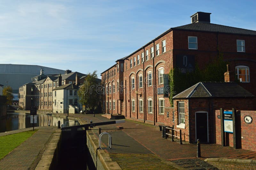
[[[187,25],[172,28],[172,30],[175,30],[175,29],[256,35],[256,31],[253,31],[253,30],[229,27],[229,26],[224,26],[219,24],[204,23],[204,22],[195,22],[192,24],[187,24]]]

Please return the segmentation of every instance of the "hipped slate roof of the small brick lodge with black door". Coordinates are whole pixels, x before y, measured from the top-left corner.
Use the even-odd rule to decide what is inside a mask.
[[[232,82],[199,82],[172,99],[204,97],[254,97],[252,93]]]

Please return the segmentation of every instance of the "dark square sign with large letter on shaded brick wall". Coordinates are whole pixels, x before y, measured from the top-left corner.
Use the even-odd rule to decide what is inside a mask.
[[[181,73],[190,73],[195,70],[195,56],[182,55],[176,56],[176,66]]]

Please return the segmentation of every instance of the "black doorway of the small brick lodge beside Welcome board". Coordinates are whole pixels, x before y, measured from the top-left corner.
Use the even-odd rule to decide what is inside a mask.
[[[207,112],[196,113],[196,140],[208,143],[208,115]]]

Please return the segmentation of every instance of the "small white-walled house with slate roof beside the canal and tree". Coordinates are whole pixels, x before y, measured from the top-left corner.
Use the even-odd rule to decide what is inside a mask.
[[[82,104],[79,103],[79,87],[75,84],[64,84],[53,89],[53,113],[79,113]]]

